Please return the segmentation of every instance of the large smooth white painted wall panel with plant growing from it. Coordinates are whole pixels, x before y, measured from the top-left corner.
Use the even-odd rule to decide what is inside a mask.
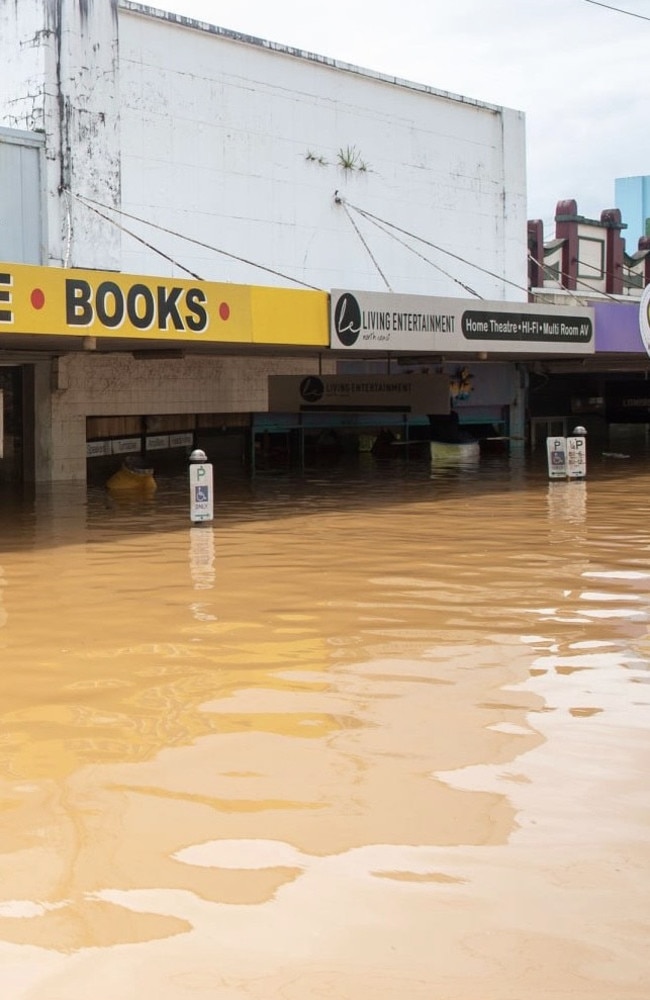
[[[319,288],[467,292],[349,202],[503,281],[421,243],[418,253],[491,298],[525,297],[523,117],[395,85],[120,10],[124,208]],[[345,171],[354,147],[368,169]],[[312,153],[317,157],[308,160]],[[322,158],[322,163],[318,158]],[[248,265],[128,222],[179,264],[212,280],[288,284]],[[397,234],[405,239],[402,234]],[[178,273],[124,237],[124,270]],[[376,260],[376,264],[372,260]]]

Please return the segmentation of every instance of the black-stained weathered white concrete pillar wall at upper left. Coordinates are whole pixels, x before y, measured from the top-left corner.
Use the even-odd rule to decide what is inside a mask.
[[[119,269],[119,231],[77,200],[120,202],[117,0],[6,0],[0,37],[0,124],[46,138],[47,262]]]

